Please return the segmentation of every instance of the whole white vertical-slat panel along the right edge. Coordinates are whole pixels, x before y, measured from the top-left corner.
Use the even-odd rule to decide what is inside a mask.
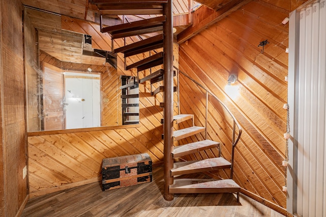
[[[291,142],[296,149],[293,148],[291,157],[297,165],[293,167],[294,173],[290,173],[294,188],[290,195],[293,200],[289,201],[293,201],[293,206],[287,210],[300,217],[326,216],[325,2],[307,2],[296,10],[298,19],[292,16],[294,23],[290,23],[290,29],[295,31],[290,34],[290,41],[298,37],[298,43],[289,53],[289,59],[294,60],[289,62],[289,73],[294,74],[289,80],[292,88],[289,93],[294,92],[294,96],[288,96],[294,106],[289,121],[294,122]]]

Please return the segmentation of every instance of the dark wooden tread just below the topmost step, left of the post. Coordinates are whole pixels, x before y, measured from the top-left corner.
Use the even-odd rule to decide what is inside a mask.
[[[112,39],[143,35],[163,29],[166,16],[154,17],[134,22],[123,23],[101,28],[101,33],[109,33]]]

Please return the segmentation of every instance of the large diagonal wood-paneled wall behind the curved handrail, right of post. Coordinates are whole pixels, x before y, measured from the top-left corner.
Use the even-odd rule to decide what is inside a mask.
[[[180,69],[212,90],[242,126],[241,140],[235,150],[235,180],[243,189],[281,207],[286,207],[282,161],[286,149],[283,134],[287,112],[282,107],[287,102],[284,77],[287,75],[285,49],[288,44],[288,24],[283,25],[281,21],[287,15],[277,7],[253,1],[180,44],[179,50]],[[261,53],[258,45],[266,39],[269,44]],[[225,90],[229,73],[238,75],[236,97]],[[196,95],[189,95],[191,91]],[[182,112],[193,112],[195,122],[204,126],[199,120],[205,115],[204,93],[182,76],[180,92],[187,92],[180,97]],[[192,102],[195,99],[199,101]],[[210,108],[208,118],[209,137],[223,143],[222,154],[230,159],[232,123],[219,107]],[[226,118],[226,122],[221,118]],[[213,150],[209,154],[216,156]],[[206,157],[208,153],[188,158]],[[222,177],[227,174],[227,171],[219,173]]]

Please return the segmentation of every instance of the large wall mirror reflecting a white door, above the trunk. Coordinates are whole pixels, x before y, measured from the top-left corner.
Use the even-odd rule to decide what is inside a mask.
[[[138,123],[134,78],[118,75],[116,55],[94,49],[91,35],[61,22],[60,15],[24,9],[28,132]]]

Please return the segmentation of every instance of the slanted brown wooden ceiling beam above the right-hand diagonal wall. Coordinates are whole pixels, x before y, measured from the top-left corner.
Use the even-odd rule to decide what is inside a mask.
[[[205,28],[208,28],[210,25],[222,20],[224,17],[251,1],[252,0],[233,0],[218,11],[214,11],[206,6],[200,7],[193,14],[193,24],[187,27],[177,36],[177,43],[180,44],[185,42],[186,40],[200,33]]]

